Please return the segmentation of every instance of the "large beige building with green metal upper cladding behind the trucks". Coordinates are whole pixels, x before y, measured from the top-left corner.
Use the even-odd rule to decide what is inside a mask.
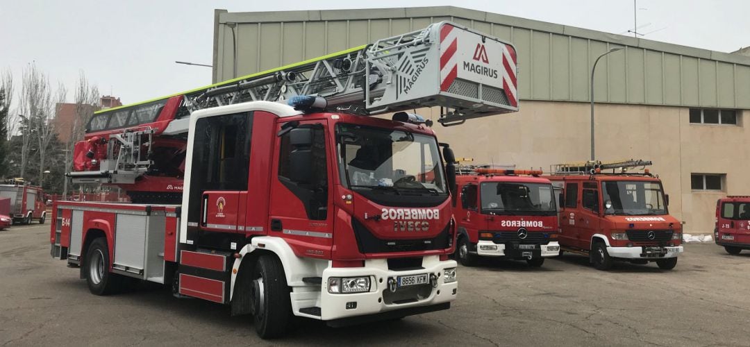
[[[685,232],[709,234],[716,200],[750,195],[750,57],[459,7],[214,12],[214,82],[449,20],[517,49],[520,112],[434,126],[458,157],[521,168],[589,158],[595,70],[598,160],[652,160]],[[418,109],[437,119],[439,109]]]

